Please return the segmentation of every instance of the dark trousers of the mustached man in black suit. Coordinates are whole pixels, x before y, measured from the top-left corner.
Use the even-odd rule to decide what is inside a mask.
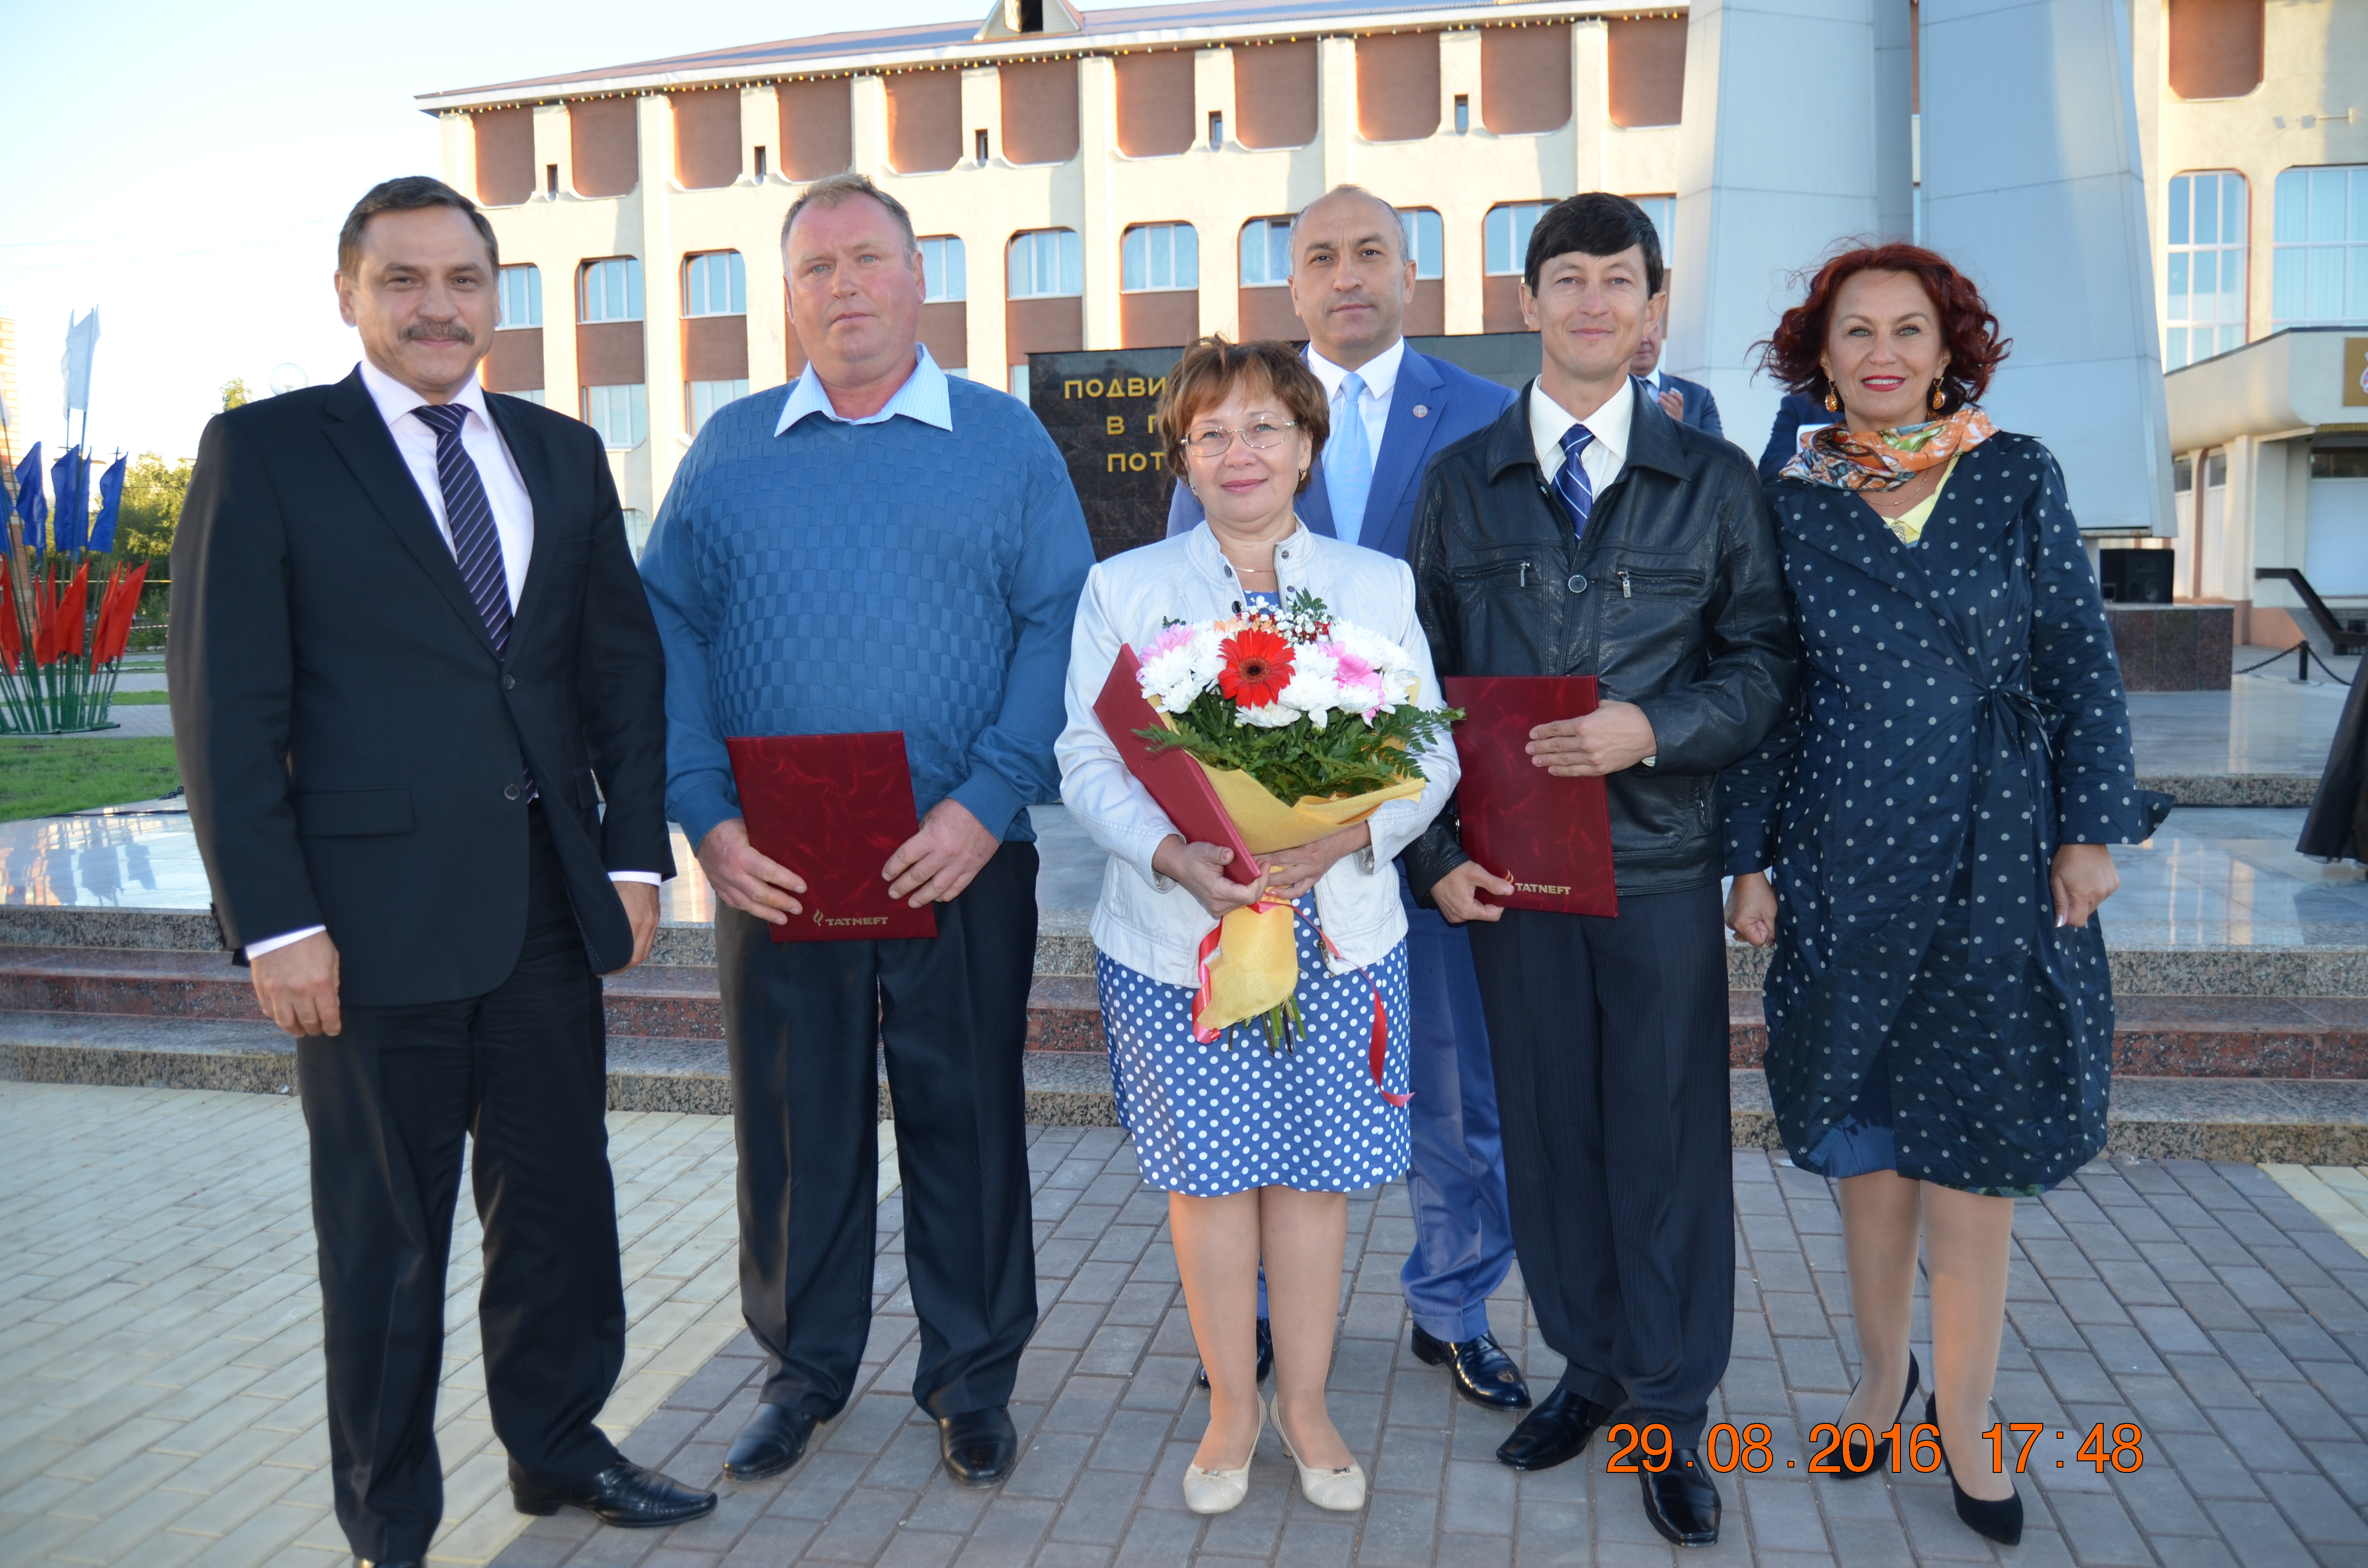
[[[625,1360],[609,1180],[606,1037],[542,810],[526,940],[502,985],[424,1007],[346,1007],[296,1047],[329,1360],[329,1466],[355,1556],[424,1559],[443,1521],[436,1381],[464,1139],[485,1227],[485,1402],[511,1473],[616,1464],[592,1424]]]

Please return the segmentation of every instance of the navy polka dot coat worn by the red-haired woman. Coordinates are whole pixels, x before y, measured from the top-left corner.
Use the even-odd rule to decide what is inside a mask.
[[[1802,635],[1793,713],[1719,779],[1769,872],[1769,1097],[1793,1161],[2041,1191],[2105,1146],[2105,931],[2055,924],[2060,843],[2145,838],[2122,673],[2055,457],[1963,452],[1916,545],[1769,486]]]

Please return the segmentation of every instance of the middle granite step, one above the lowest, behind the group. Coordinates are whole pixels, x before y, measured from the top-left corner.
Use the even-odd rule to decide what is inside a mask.
[[[644,964],[604,983],[609,1035],[720,1042],[715,969]],[[256,1021],[246,971],[223,952],[0,947],[0,1011]],[[2157,997],[2117,1002],[2115,1071],[2153,1078],[2368,1078],[2363,997]],[[1757,990],[1729,992],[1729,1066],[1757,1068],[1767,1018]],[[1089,976],[1040,973],[1028,1049],[1103,1052]]]

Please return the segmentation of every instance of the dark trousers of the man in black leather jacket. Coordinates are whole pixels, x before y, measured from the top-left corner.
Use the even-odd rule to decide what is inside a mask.
[[[1736,1331],[1719,886],[1471,933],[1513,1246],[1563,1388],[1695,1447]]]

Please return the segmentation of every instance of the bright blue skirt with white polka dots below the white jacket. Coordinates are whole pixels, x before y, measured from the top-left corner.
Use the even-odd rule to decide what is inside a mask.
[[[1317,914],[1312,893],[1300,910]],[[1407,1108],[1381,1097],[1366,1066],[1373,988],[1354,969],[1326,973],[1314,928],[1295,924],[1307,1033],[1272,1056],[1255,1021],[1215,1045],[1196,1042],[1191,985],[1165,985],[1094,955],[1118,1120],[1134,1135],[1146,1184],[1222,1199],[1253,1187],[1359,1191],[1407,1172]],[[1390,1018],[1383,1082],[1404,1094],[1407,943],[1369,973]]]

